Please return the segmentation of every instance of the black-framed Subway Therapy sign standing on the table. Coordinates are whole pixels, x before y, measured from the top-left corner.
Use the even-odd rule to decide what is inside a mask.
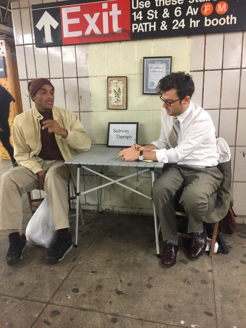
[[[138,140],[138,122],[109,122],[107,147],[131,147]]]

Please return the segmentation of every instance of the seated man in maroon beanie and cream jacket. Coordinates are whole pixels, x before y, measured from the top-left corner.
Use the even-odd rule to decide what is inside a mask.
[[[26,236],[21,232],[22,193],[45,190],[57,231],[45,260],[54,264],[73,247],[67,186],[70,178],[76,185],[76,168],[64,161],[75,156],[76,150],[90,149],[91,138],[75,114],[53,106],[54,86],[49,80],[32,80],[28,89],[34,107],[18,115],[13,124],[14,157],[19,166],[0,177],[0,229],[9,230],[6,261],[15,264],[26,248]]]

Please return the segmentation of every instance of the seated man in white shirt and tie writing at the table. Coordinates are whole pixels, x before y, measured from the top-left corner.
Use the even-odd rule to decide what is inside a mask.
[[[165,163],[154,183],[153,200],[162,238],[166,241],[161,262],[171,267],[179,250],[175,194],[183,189],[180,204],[188,214],[190,256],[196,259],[207,246],[203,222],[208,200],[218,189],[223,175],[216,167],[219,156],[213,121],[190,100],[195,89],[192,77],[184,72],[171,73],[159,81],[156,89],[163,102],[159,139],[150,145],[137,145],[138,150],[135,146],[123,149],[120,156],[126,161],[149,159]]]

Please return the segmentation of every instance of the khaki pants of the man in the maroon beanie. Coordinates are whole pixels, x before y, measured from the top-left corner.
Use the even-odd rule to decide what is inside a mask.
[[[70,172],[62,160],[39,163],[46,171],[44,190],[49,196],[55,229],[69,227],[68,188]],[[22,229],[22,194],[38,188],[38,177],[24,166],[17,166],[0,177],[0,230]]]

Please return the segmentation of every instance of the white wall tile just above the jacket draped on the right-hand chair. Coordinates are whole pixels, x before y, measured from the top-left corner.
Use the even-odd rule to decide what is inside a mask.
[[[219,137],[224,138],[228,145],[235,145],[237,110],[221,110],[219,120]]]

